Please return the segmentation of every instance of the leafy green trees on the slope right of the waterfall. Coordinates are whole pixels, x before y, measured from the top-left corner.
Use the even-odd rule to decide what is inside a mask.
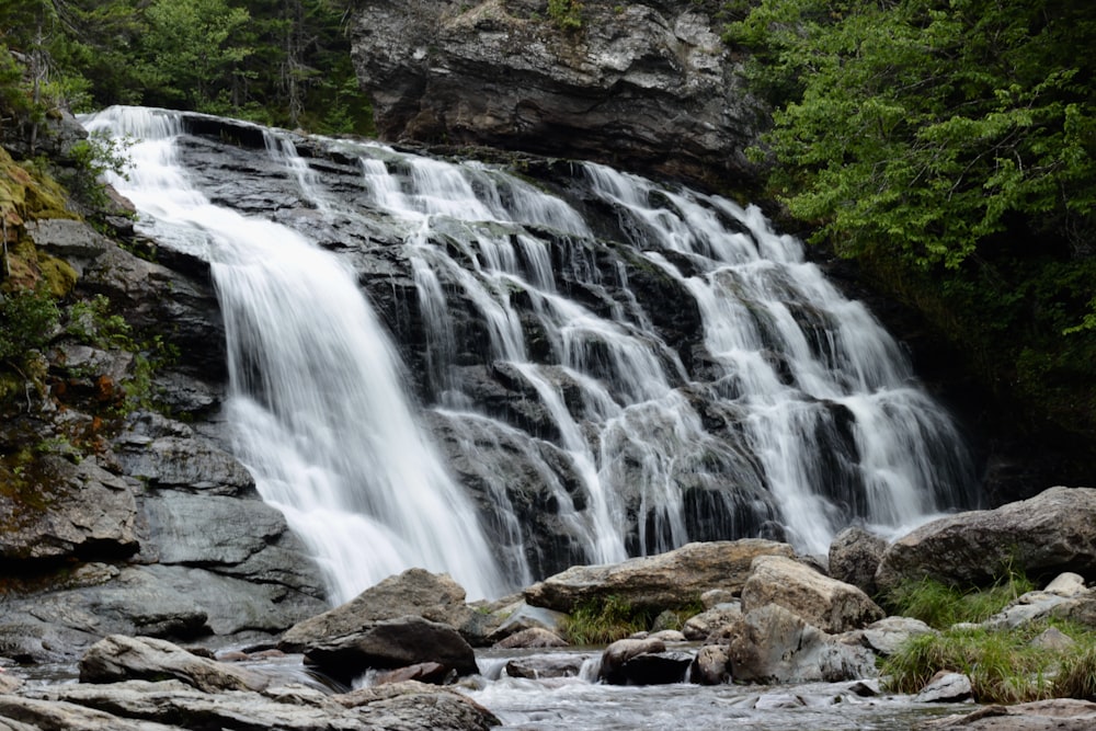
[[[728,38],[775,108],[772,193],[1021,429],[1096,438],[1096,5],[737,4]]]

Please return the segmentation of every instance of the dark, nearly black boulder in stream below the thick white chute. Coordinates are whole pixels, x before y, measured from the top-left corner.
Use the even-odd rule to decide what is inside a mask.
[[[458,675],[479,670],[476,653],[457,630],[414,616],[368,623],[347,635],[311,642],[305,648],[305,662],[347,684],[367,670],[426,662]]]

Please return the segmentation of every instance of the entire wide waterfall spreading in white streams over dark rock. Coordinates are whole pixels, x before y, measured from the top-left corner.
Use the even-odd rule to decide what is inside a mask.
[[[118,186],[153,236],[214,263],[236,448],[336,597],[409,566],[490,595],[688,540],[824,552],[845,525],[974,502],[963,441],[900,349],[756,208],[584,163],[543,175],[549,194],[346,140],[311,140],[328,160],[309,165],[266,130],[300,214],[278,220],[329,226],[340,256],[210,205],[169,123],[88,125],[145,140]]]

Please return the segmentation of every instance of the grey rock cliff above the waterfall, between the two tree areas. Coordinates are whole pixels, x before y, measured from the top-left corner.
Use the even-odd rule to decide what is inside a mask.
[[[720,41],[719,3],[536,0],[359,7],[358,79],[381,138],[484,145],[741,185],[758,113]]]

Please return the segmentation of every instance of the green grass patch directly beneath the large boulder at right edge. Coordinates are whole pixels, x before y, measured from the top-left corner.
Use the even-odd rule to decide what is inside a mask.
[[[1009,573],[1007,580],[990,589],[968,591],[924,578],[904,581],[892,589],[883,605],[894,615],[947,629],[959,623],[984,621],[1031,589],[1031,582],[1016,573]]]

